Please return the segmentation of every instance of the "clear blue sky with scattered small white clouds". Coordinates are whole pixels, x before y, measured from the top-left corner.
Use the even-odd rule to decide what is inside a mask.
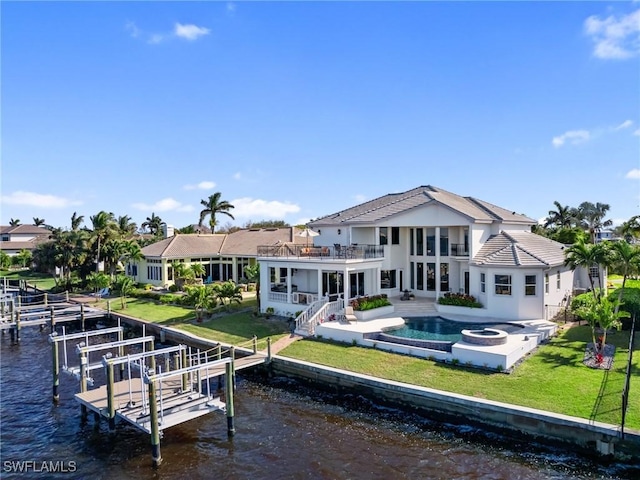
[[[182,227],[217,191],[298,224],[419,185],[640,213],[640,2],[0,9],[3,225]]]

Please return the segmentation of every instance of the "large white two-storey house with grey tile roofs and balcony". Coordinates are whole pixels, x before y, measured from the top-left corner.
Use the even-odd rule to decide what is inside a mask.
[[[535,223],[432,186],[385,195],[310,222],[310,247],[260,247],[261,308],[288,315],[324,297],[408,289],[473,295],[483,316],[544,318],[572,291],[573,272],[564,245],[531,233]]]

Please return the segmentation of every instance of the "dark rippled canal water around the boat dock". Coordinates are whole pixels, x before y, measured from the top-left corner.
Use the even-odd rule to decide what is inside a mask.
[[[433,423],[356,396],[286,379],[238,377],[236,435],[210,414],[168,429],[163,464],[150,437],[119,424],[82,424],[75,381],[61,375],[51,402],[47,332],[0,338],[0,477],[86,479],[637,479],[640,468]],[[17,470],[22,469],[22,473]]]

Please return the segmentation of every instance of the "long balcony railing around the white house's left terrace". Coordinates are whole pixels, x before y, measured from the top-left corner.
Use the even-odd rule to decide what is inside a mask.
[[[261,245],[258,257],[285,257],[310,260],[384,258],[380,245],[334,245],[318,247],[305,245]]]

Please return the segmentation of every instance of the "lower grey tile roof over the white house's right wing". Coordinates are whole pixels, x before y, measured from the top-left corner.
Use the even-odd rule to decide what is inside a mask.
[[[530,232],[493,235],[473,258],[473,265],[554,267],[564,263],[564,245]]]

